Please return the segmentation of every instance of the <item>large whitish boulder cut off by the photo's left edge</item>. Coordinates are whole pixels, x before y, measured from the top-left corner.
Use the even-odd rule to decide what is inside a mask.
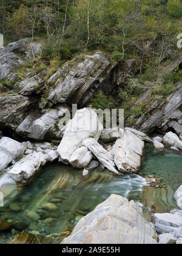
[[[10,162],[24,154],[25,148],[21,143],[8,137],[0,140],[0,173]]]

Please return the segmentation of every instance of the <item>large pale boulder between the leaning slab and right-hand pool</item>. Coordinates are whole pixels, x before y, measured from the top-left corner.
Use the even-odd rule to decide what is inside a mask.
[[[132,131],[125,129],[123,136],[113,145],[114,161],[118,170],[136,173],[141,165],[144,142]]]

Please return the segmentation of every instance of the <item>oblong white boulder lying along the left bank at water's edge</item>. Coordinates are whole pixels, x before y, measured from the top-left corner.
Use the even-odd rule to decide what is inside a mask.
[[[30,178],[33,178],[39,168],[45,163],[45,154],[34,152],[16,162],[12,168],[8,168],[7,173],[16,184],[24,185],[29,182]]]

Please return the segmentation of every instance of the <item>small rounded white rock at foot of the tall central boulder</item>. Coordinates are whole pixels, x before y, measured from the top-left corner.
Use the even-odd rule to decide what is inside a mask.
[[[74,168],[83,169],[92,160],[93,154],[87,147],[80,147],[70,157],[69,163]]]

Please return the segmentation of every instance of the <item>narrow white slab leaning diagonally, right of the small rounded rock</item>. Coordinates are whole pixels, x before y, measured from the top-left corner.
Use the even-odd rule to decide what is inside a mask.
[[[113,173],[119,174],[115,168],[115,163],[113,161],[113,157],[105,150],[95,139],[86,139],[83,141],[83,145],[94,154],[94,156],[106,167],[109,171]]]

